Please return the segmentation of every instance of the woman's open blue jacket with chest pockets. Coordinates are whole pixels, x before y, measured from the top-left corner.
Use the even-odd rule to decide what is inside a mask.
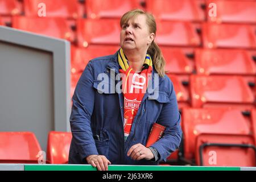
[[[104,81],[109,89],[119,82],[118,79],[111,80],[110,77],[110,74],[119,73],[117,53],[89,61],[77,82],[70,117],[72,142],[69,163],[86,164],[86,156],[93,154],[105,155],[112,164],[156,165],[161,160],[166,161],[171,152],[179,148],[182,135],[181,118],[170,78],[166,75],[159,76],[159,88],[155,86],[157,89],[154,88],[154,92],[150,93],[147,90],[144,94],[130,135],[125,141],[123,94],[106,92],[104,87],[99,86],[102,82],[98,80],[100,73],[108,75],[109,80]],[[155,69],[152,73],[152,75],[156,73]],[[154,76],[151,82],[154,82]],[[155,92],[158,92],[158,97],[155,97]],[[145,146],[152,124],[155,122],[166,126],[163,137],[151,146],[158,151],[159,159],[156,162],[130,159],[127,156],[129,148],[137,143]]]

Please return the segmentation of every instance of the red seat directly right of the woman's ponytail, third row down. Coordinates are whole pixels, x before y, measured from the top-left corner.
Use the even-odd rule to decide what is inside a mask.
[[[174,74],[191,74],[194,69],[191,61],[180,48],[161,47],[166,60],[166,72]]]

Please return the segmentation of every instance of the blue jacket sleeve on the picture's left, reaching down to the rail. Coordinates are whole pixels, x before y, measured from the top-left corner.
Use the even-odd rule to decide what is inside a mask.
[[[93,67],[90,61],[82,73],[75,93],[70,116],[72,137],[81,160],[89,155],[98,155],[93,139],[90,119],[93,113],[95,90],[93,88]]]

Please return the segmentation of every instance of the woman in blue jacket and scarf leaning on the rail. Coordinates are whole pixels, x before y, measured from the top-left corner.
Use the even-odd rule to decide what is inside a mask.
[[[180,114],[174,86],[164,75],[162,52],[154,42],[155,19],[131,10],[120,25],[121,48],[115,55],[91,60],[77,83],[69,163],[92,164],[98,170],[108,170],[109,164],[156,165],[179,147]],[[104,81],[99,79],[102,73]],[[121,78],[113,79],[113,73],[122,73]],[[159,77],[154,78],[156,73]],[[120,80],[122,92],[109,92]],[[145,147],[155,122],[166,127],[163,137]]]

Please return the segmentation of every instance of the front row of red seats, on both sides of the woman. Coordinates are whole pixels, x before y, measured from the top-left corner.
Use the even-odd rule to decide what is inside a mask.
[[[181,116],[183,144],[179,156],[171,155],[169,160],[185,159],[199,166],[256,166],[255,109],[187,108]],[[0,163],[38,163],[42,159],[33,133],[0,132],[0,137]],[[67,163],[71,139],[68,132],[49,132],[46,162]],[[209,160],[212,155],[217,155],[213,163]]]

